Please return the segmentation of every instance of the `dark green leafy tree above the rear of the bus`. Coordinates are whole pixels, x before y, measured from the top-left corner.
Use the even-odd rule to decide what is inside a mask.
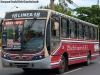
[[[100,7],[98,5],[92,5],[91,7],[79,7],[74,9],[74,11],[77,13],[77,18],[100,25]]]

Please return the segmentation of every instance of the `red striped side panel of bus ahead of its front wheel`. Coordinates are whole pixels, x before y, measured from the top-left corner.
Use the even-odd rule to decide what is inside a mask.
[[[60,67],[60,62],[61,62],[61,56],[64,52],[66,52],[66,44],[65,43],[60,43],[58,48],[56,48],[52,53],[51,53],[51,68],[59,68]],[[55,64],[55,65],[54,65]]]

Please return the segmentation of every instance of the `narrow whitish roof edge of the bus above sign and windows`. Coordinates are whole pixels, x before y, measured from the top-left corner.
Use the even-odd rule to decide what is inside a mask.
[[[44,10],[44,11],[50,11],[52,14],[55,14],[55,15],[58,15],[58,16],[61,16],[61,17],[64,17],[64,18],[68,18],[68,19],[71,19],[73,21],[77,21],[77,22],[84,23],[84,24],[87,24],[87,25],[90,25],[90,26],[98,27],[98,25],[95,25],[95,24],[92,24],[92,23],[89,23],[89,22],[86,22],[86,21],[83,21],[83,20],[80,20],[80,19],[68,16],[68,15],[65,15],[63,13],[56,12],[56,11],[51,10],[51,9],[33,9],[33,8],[32,9],[21,9],[21,10],[8,11],[8,12],[6,12],[6,14],[10,13],[10,12],[27,11],[27,10]]]

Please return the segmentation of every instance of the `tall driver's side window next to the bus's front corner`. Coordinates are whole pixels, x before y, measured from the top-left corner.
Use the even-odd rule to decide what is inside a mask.
[[[54,29],[54,22],[58,22],[58,28]],[[54,17],[54,20],[51,20],[51,52],[57,48],[60,42],[60,19]]]

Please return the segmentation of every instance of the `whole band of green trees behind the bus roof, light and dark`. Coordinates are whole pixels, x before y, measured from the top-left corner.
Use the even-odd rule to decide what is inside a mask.
[[[40,9],[50,9],[50,5],[40,6]],[[71,11],[66,9],[59,4],[54,5],[54,10],[57,12],[61,12],[63,14],[73,16],[75,18],[81,19],[83,21],[90,22],[92,24],[96,24],[99,26],[99,35],[100,35],[100,6],[92,5],[91,7],[78,7]],[[74,14],[73,14],[74,12]],[[100,37],[99,37],[100,39]]]

